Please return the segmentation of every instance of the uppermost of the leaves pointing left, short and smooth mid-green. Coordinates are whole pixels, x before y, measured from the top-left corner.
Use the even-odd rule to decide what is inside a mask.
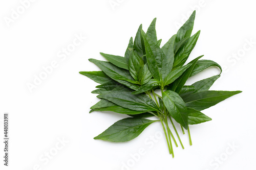
[[[104,53],[100,53],[103,57],[105,57],[105,59],[107,59],[109,62],[111,62],[112,64],[123,68],[123,69],[128,69],[128,59],[121,57],[121,56],[114,56],[114,55],[110,55],[110,54],[104,54]]]

